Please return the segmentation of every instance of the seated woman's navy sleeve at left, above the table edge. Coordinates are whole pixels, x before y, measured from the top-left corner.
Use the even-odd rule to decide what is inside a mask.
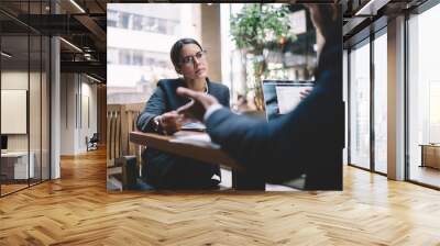
[[[157,87],[138,118],[138,128],[142,132],[154,132],[153,118],[165,113],[165,92]]]

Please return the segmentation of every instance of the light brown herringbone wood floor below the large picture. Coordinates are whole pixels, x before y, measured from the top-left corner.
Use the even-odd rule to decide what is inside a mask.
[[[346,167],[343,192],[106,191],[105,152],[0,199],[0,245],[440,245],[440,192]]]

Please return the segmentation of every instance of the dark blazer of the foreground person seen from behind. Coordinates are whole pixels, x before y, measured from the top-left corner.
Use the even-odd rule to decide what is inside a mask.
[[[212,141],[254,175],[282,183],[306,174],[307,190],[342,189],[344,116],[341,43],[327,43],[311,93],[268,123],[228,109],[207,120]]]

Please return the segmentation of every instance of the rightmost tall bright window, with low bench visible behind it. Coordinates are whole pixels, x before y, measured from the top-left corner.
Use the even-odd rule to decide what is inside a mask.
[[[440,171],[421,156],[422,145],[440,143],[439,23],[440,4],[408,20],[408,178],[435,187],[440,187]]]

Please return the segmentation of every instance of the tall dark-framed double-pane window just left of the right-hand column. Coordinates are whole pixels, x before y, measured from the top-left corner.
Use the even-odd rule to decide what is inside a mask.
[[[348,68],[350,71],[349,164],[380,174],[387,172],[386,31],[384,27],[372,34],[373,42],[366,38],[352,47]],[[372,133],[374,135],[371,135]]]

